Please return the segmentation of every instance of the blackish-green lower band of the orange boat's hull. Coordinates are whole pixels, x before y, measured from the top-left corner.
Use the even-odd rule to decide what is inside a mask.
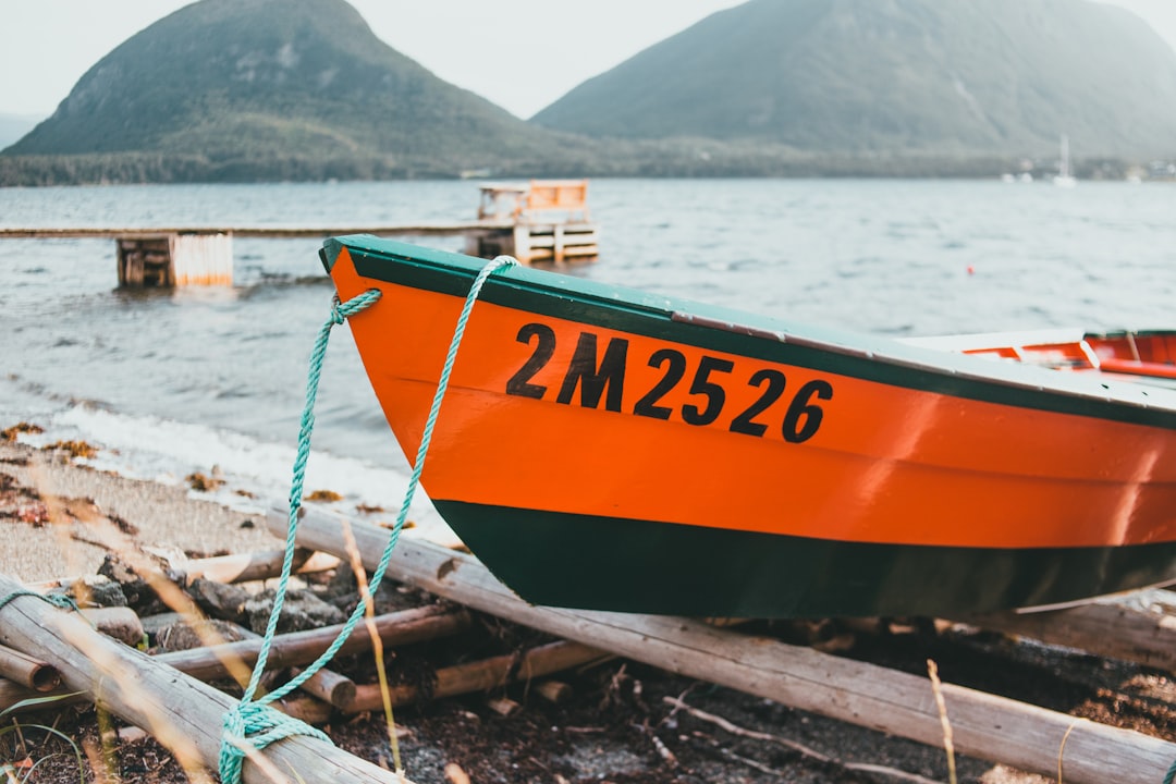
[[[953,617],[1176,577],[1174,542],[1040,549],[868,544],[435,504],[499,579],[523,599],[550,607],[755,618]]]

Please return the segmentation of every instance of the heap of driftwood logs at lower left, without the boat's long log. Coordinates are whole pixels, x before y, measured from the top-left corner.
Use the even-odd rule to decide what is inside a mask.
[[[0,575],[0,596],[14,597],[0,609],[0,713],[94,702],[149,729],[181,765],[215,769],[223,716],[241,693],[261,650],[261,636],[250,626],[260,623],[263,629],[268,618],[272,598],[266,597],[272,591],[263,590],[265,581],[280,574],[281,559],[281,551],[270,551],[161,564],[160,572],[146,582],[129,567],[112,559],[96,578],[25,587]],[[279,634],[269,646],[263,688],[289,679],[299,668],[314,662],[343,629],[345,612],[316,598],[330,594],[332,588],[319,575],[347,574],[339,569],[339,558],[299,551],[295,564],[305,584],[314,590],[303,588],[288,594]],[[163,608],[159,595],[145,590],[146,584],[160,578],[181,588],[191,599],[182,612]],[[358,594],[354,582],[350,591],[347,581],[342,582],[342,591],[335,587],[335,598],[342,597],[349,612]],[[65,594],[81,609],[78,614],[64,611],[25,595],[29,589],[45,595]],[[95,599],[125,597],[131,597],[129,604],[135,607],[86,607]],[[389,651],[390,658],[403,646],[460,635],[472,626],[472,614],[463,607],[423,595],[407,603],[413,601],[419,605],[373,614],[358,624],[339,649],[336,661],[370,654],[375,641]],[[302,607],[298,607],[300,603]],[[321,624],[323,617],[333,616],[338,623]],[[428,683],[394,683],[387,688],[376,682],[356,683],[328,666],[306,681],[296,696],[288,695],[274,708],[321,725],[333,716],[381,710],[386,702],[399,706],[489,692],[515,679],[535,679],[540,686],[536,693],[550,693],[555,699],[561,684],[542,682],[543,676],[604,657],[588,645],[543,642],[506,655],[441,666]],[[509,701],[497,702],[502,704],[492,705],[495,710],[510,709]],[[172,729],[161,729],[166,726]],[[293,755],[288,762],[298,763],[290,763],[292,770],[305,780],[401,780],[381,778],[387,771],[376,773],[367,763],[348,759],[350,755],[310,738],[295,737],[278,748],[285,751],[275,760]],[[245,770],[246,780],[273,780],[259,777],[255,766],[246,765]]]

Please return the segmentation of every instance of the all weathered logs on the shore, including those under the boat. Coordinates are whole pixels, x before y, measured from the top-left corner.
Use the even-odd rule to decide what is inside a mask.
[[[270,524],[283,528],[285,515],[272,516]],[[295,561],[310,594],[326,592],[330,581],[320,575],[334,574],[338,579],[340,572],[347,572],[340,557],[348,558],[348,551],[363,554],[362,565],[373,568],[388,536],[383,529],[352,523],[348,541],[339,522],[321,512],[308,514],[300,525],[298,542],[308,549],[300,550]],[[186,736],[183,742],[176,741],[169,749],[178,758],[188,755],[194,764],[215,768],[220,722],[260,649],[256,630],[249,628],[255,621],[249,619],[243,605],[263,594],[265,581],[279,572],[280,563],[281,552],[275,551],[166,565],[162,571],[169,582],[182,588],[191,603],[202,610],[199,618],[191,612],[136,614],[128,608],[82,610],[99,630],[118,634],[122,643],[99,642],[101,635],[89,622],[81,623],[72,614],[35,598],[18,597],[0,609],[0,643],[8,646],[0,649],[0,711],[38,696],[83,692],[71,698],[99,702],[131,723],[153,728],[165,745],[169,744],[166,733],[154,730],[159,715],[187,722],[180,733]],[[118,570],[108,571],[119,577]],[[435,666],[427,683],[382,686],[370,675],[368,682],[358,682],[354,674],[321,670],[302,685],[300,695],[281,701],[280,710],[310,723],[325,723],[332,716],[374,711],[385,704],[488,692],[512,679],[534,679],[537,688],[533,691],[550,695],[554,701],[567,686],[544,682],[546,676],[622,656],[929,745],[943,743],[946,704],[957,751],[1045,775],[1064,765],[1068,782],[1161,780],[1176,759],[1176,744],[951,684],[936,682],[940,699],[933,699],[926,678],[827,652],[836,651],[841,643],[837,635],[827,635],[822,624],[799,624],[809,632],[806,642],[811,644],[797,646],[724,624],[536,608],[517,599],[470,556],[421,540],[401,541],[388,575],[401,583],[402,592],[412,594],[402,597],[401,604],[414,605],[374,611],[368,624],[352,632],[340,656],[367,652],[376,638],[395,656],[403,646],[465,634],[477,618],[489,616],[539,630],[544,637],[506,654]],[[138,577],[128,577],[125,594],[149,594],[134,584]],[[74,581],[56,582],[61,584],[35,588],[69,588],[82,601],[87,594],[98,592],[93,587],[80,590]],[[359,592],[354,583],[349,585],[349,594],[345,594],[353,605]],[[0,577],[0,594],[20,590],[22,587]],[[112,617],[102,619],[102,612]],[[268,669],[288,675],[314,661],[341,628],[340,622],[325,623],[328,616],[315,616],[318,619],[308,622],[313,628],[280,625]],[[1135,611],[1122,604],[940,623],[960,622],[1148,666],[1170,670],[1176,665],[1172,616]],[[860,622],[838,629],[875,634],[881,625],[887,623]],[[181,637],[192,642],[181,646]],[[151,655],[141,655],[135,645],[146,646]],[[101,664],[103,661],[107,663]],[[129,679],[142,683],[123,693],[123,686],[111,685],[119,681],[112,677],[112,669],[132,672]],[[153,690],[158,691],[151,697]],[[183,695],[182,709],[175,705],[178,691]],[[490,706],[501,712],[512,710],[509,701],[496,701]],[[393,780],[381,778],[387,771],[369,770],[366,763],[348,759],[348,755],[327,745],[325,749],[309,738],[289,738],[267,751],[266,757],[285,760],[307,780],[320,776]],[[292,762],[295,758],[296,764]],[[312,758],[319,762],[309,762]],[[261,766],[246,765],[247,780],[258,776]]]

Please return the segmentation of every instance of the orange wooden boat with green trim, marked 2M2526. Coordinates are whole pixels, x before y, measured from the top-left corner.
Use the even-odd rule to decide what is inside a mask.
[[[342,300],[381,292],[349,323],[412,461],[485,262],[321,255]],[[914,344],[510,267],[422,483],[536,604],[953,616],[1174,581],[1176,333],[1054,337]]]

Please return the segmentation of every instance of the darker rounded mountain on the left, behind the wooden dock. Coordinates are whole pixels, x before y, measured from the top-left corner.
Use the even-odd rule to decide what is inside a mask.
[[[388,47],[343,0],[202,0],[102,58],[5,156],[176,179],[452,176],[568,143]]]

